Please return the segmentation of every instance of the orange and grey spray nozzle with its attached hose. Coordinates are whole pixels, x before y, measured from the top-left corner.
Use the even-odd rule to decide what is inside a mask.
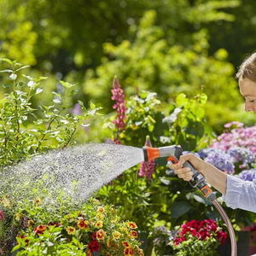
[[[143,154],[145,161],[154,160],[159,157],[168,157],[167,161],[172,161],[172,163],[176,164],[180,156],[183,154],[183,149],[176,145],[160,148],[143,147]],[[183,166],[189,167],[193,173],[192,178],[189,181],[190,185],[196,189],[199,189],[207,201],[210,201],[212,205],[217,208],[219,214],[224,219],[224,223],[226,224],[230,233],[231,256],[236,256],[236,236],[232,224],[230,223],[230,218],[228,218],[226,212],[224,212],[223,207],[221,207],[221,205],[218,203],[215,193],[208,186],[206,178],[201,174],[201,172],[196,171],[194,166],[192,166],[189,161],[186,161]]]

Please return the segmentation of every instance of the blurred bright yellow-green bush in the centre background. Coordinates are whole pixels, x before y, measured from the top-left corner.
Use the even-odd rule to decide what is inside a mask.
[[[117,74],[127,96],[152,90],[161,101],[171,102],[180,92],[189,96],[204,92],[208,96],[207,104],[211,105],[211,113],[207,112],[209,119],[218,105],[223,112],[236,111],[239,97],[235,79],[231,77],[234,69],[225,61],[227,52],[219,49],[209,57],[205,30],[193,34],[189,47],[172,45],[165,39],[164,30],[155,25],[155,19],[155,12],[148,11],[134,31],[132,42],[125,40],[117,46],[104,44],[106,58],[95,72],[87,72],[85,94],[109,106],[110,84]],[[221,121],[225,118],[229,119],[226,116]]]

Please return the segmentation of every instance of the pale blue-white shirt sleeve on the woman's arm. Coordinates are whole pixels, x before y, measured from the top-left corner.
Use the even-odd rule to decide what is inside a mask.
[[[253,182],[241,180],[239,177],[227,176],[224,202],[232,209],[256,212],[256,180]]]

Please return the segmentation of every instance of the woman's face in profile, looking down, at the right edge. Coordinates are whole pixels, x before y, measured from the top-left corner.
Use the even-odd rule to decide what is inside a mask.
[[[256,113],[256,82],[249,79],[240,79],[241,96],[245,98],[245,111]]]

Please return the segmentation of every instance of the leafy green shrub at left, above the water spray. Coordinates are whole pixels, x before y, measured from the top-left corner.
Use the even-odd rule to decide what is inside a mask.
[[[40,86],[44,77],[20,76],[22,66],[16,61],[2,59],[9,66],[2,73],[8,74],[9,83],[3,84],[9,93],[0,101],[0,166],[8,166],[33,154],[40,154],[53,148],[64,148],[73,139],[75,131],[84,120],[97,114],[94,104],[84,113],[73,115],[68,102],[73,84],[61,81],[60,92],[53,92],[50,106],[32,108],[32,99],[43,92]]]

